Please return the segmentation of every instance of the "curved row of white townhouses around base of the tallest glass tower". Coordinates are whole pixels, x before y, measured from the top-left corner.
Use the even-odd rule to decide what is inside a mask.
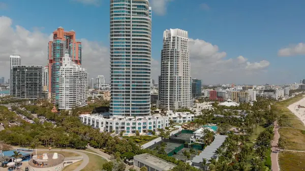
[[[148,130],[157,131],[158,128],[165,129],[169,126],[169,119],[167,116],[159,114],[152,116],[113,116],[104,118],[98,114],[84,114],[79,116],[81,122],[86,125],[91,125],[94,128],[99,128],[101,131],[116,133],[126,131],[126,133],[148,132]]]

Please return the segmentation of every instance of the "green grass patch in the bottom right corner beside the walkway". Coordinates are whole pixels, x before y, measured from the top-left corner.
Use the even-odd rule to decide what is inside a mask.
[[[281,171],[305,170],[305,153],[284,151],[279,154]]]

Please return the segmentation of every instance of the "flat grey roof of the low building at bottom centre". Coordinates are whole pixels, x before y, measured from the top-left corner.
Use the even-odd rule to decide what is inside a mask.
[[[134,156],[134,159],[151,166],[162,168],[162,170],[170,170],[176,166],[176,164],[167,162],[159,157],[153,156],[151,154],[145,153]],[[147,164],[147,165],[148,165]]]

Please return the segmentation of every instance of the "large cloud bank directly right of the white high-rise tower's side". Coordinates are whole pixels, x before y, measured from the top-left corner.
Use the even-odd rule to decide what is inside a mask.
[[[219,50],[217,45],[200,39],[189,39],[191,76],[202,79],[204,84],[248,83],[256,84],[254,77],[265,72],[269,66],[266,60],[250,62],[238,56],[227,58],[227,53]]]

